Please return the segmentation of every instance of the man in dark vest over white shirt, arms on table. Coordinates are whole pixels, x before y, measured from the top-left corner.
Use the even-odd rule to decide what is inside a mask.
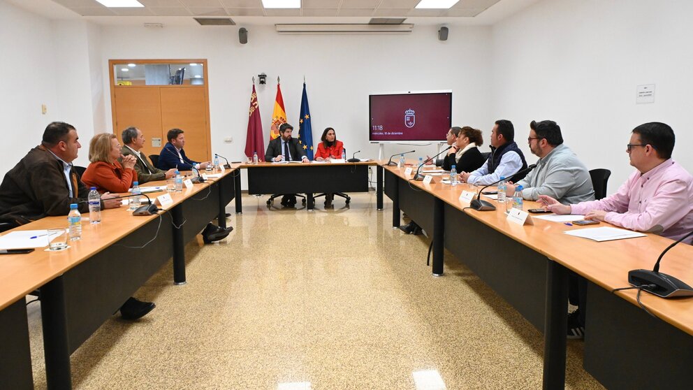
[[[491,154],[486,163],[474,172],[460,173],[460,181],[470,184],[490,185],[501,177],[510,178],[518,171],[527,168],[522,150],[515,143],[515,128],[509,120],[497,120],[491,131]],[[526,173],[525,173],[526,175]],[[517,182],[525,177],[513,178]]]

